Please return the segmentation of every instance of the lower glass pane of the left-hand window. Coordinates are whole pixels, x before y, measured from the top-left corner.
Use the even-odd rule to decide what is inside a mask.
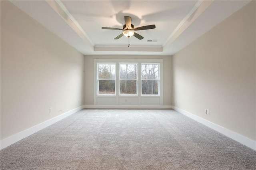
[[[99,80],[99,95],[114,95],[115,80]]]

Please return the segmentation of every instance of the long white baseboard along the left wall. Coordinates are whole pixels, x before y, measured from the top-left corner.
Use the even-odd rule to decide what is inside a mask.
[[[73,109],[66,113],[63,113],[62,115],[56,116],[52,119],[49,119],[48,121],[40,123],[34,127],[23,130],[22,132],[14,134],[8,138],[5,138],[5,139],[1,140],[1,142],[0,142],[0,149],[6,148],[7,146],[10,146],[11,144],[14,144],[15,142],[18,142],[19,140],[26,138],[26,137],[30,136],[31,134],[38,132],[39,130],[42,130],[43,128],[46,128],[46,127],[60,121],[61,119],[64,119],[65,117],[68,117],[68,116],[72,115],[73,113],[76,113],[82,109],[84,109],[84,105],[77,107],[76,109]]]

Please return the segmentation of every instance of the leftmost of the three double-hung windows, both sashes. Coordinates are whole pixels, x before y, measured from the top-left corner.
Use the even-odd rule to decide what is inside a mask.
[[[116,64],[98,63],[97,67],[98,95],[115,95]]]

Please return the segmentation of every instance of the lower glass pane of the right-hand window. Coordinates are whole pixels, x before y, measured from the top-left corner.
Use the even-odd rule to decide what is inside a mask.
[[[158,95],[158,80],[142,80],[142,95]]]

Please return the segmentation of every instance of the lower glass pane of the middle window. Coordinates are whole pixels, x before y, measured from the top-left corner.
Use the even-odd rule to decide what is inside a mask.
[[[137,81],[136,80],[120,80],[121,95],[136,95]]]

